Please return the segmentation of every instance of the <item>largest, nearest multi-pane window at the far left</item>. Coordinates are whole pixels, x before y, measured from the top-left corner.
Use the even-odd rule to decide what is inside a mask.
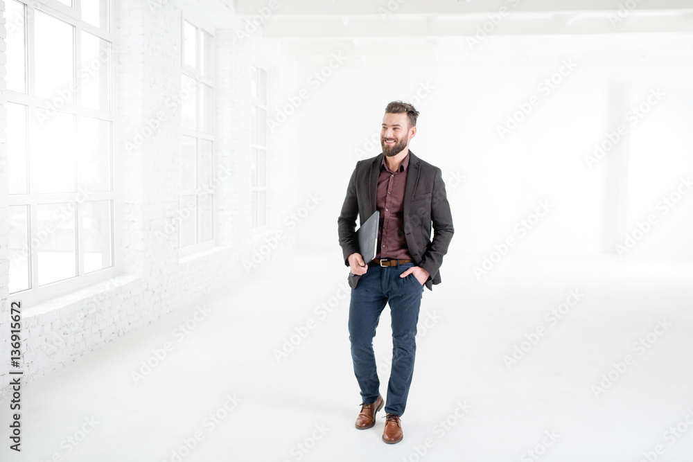
[[[6,0],[10,293],[114,267],[107,0]]]

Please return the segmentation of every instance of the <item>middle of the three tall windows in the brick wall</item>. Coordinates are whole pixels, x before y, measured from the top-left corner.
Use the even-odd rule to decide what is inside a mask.
[[[213,37],[189,21],[182,26],[179,247],[188,254],[214,239]]]

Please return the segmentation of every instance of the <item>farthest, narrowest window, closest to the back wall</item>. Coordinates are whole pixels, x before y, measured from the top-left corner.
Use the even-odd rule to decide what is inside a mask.
[[[267,72],[252,66],[251,191],[252,226],[267,224]]]

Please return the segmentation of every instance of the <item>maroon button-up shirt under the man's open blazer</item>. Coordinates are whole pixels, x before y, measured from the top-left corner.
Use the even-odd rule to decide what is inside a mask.
[[[407,247],[407,239],[404,236],[404,231],[402,231],[404,226],[404,189],[407,184],[408,166],[408,152],[396,172],[389,169],[387,162],[385,162],[385,156],[383,156],[383,163],[380,164],[378,190],[376,192],[376,207],[380,211],[376,258],[412,259]]]

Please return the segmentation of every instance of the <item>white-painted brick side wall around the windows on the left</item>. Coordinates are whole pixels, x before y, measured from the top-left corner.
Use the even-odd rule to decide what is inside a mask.
[[[246,274],[243,260],[281,227],[287,202],[270,183],[269,222],[264,234],[249,227],[249,89],[250,65],[263,55],[270,71],[270,91],[276,84],[281,56],[260,37],[240,41],[236,31],[217,29],[216,42],[216,131],[215,159],[219,168],[229,168],[231,179],[216,190],[216,245],[195,256],[179,259],[177,229],[164,236],[166,224],[177,217],[180,177],[180,111],[166,114],[156,132],[141,145],[126,145],[142,133],[159,111],[170,111],[164,103],[180,91],[180,48],[182,11],[174,2],[119,0],[115,3],[117,43],[114,46],[116,131],[114,134],[114,177],[119,199],[116,208],[116,259],[118,276],[78,292],[25,305],[25,382],[100,348],[107,342],[145,326],[161,315],[195,303],[200,296]],[[0,4],[4,5],[1,0]],[[4,8],[4,6],[2,7]],[[4,23],[3,23],[4,24]],[[0,39],[4,28],[0,27]],[[0,42],[1,73],[5,74],[4,42]],[[273,84],[274,82],[274,84]],[[4,79],[0,82],[4,98]],[[270,96],[271,99],[271,96]],[[8,220],[5,136],[6,112],[0,110],[0,392],[8,377]],[[283,156],[276,164],[270,136],[272,178],[282,170],[290,175],[292,162]],[[157,233],[161,231],[161,233]],[[165,234],[165,233],[164,233]],[[270,258],[285,253],[294,239],[287,237],[272,249]],[[12,297],[10,297],[12,299]],[[234,307],[229,307],[234,309]]]

